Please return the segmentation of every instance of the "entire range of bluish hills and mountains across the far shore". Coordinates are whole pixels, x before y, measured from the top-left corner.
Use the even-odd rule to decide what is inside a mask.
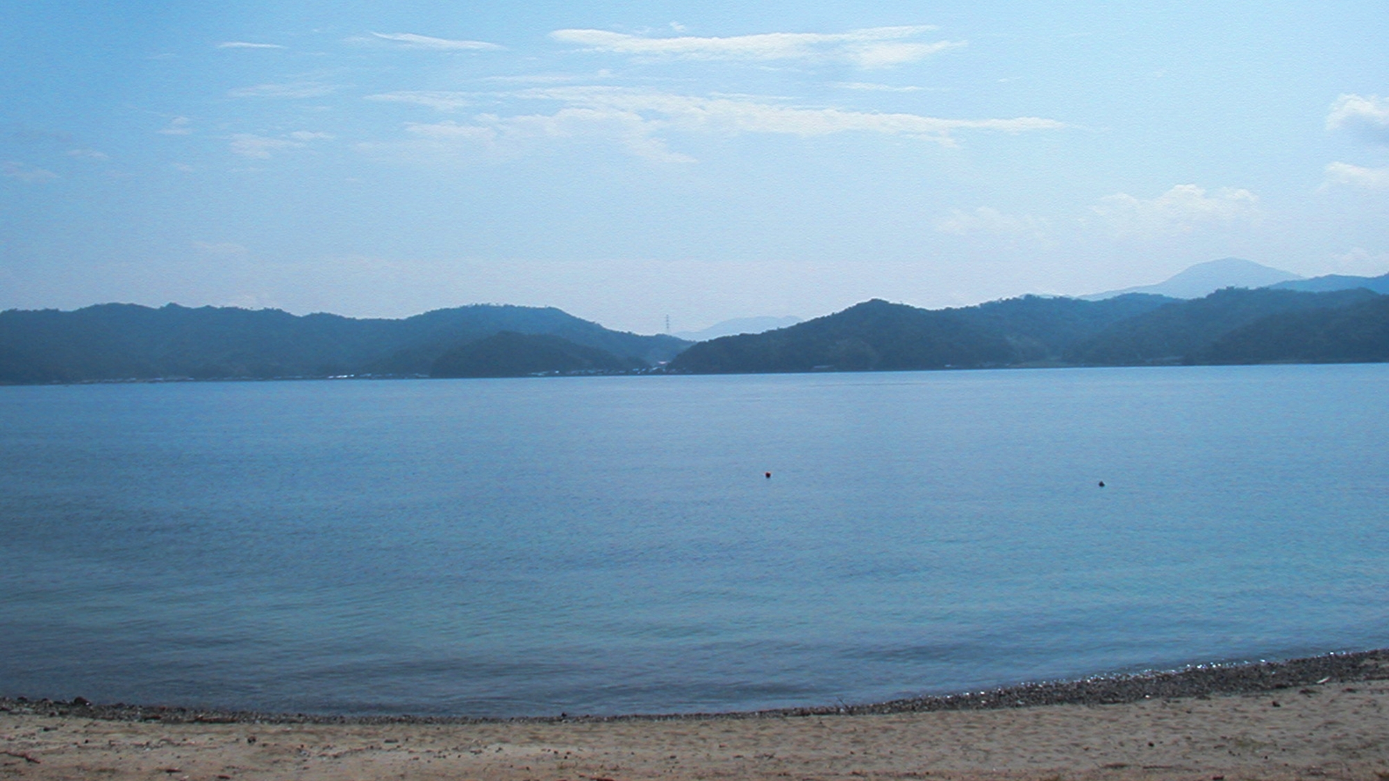
[[[781,328],[726,321],[714,328],[736,334],[699,342],[611,331],[553,307],[403,320],[176,304],[10,310],[0,313],[0,384],[1389,360],[1389,274],[1288,277],[1224,258],[1138,292],[940,310],[875,299]],[[1245,283],[1204,290],[1232,278]]]

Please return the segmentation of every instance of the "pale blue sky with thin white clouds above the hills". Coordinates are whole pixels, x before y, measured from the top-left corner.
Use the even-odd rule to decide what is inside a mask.
[[[1386,33],[1382,0],[18,0],[0,309],[654,334],[1378,275]]]

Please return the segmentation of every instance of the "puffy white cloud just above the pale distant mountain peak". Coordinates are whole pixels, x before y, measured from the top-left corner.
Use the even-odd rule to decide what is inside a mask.
[[[1100,199],[1093,210],[1121,236],[1145,238],[1249,224],[1260,215],[1257,196],[1246,189],[1221,188],[1207,195],[1196,185],[1176,185],[1149,200],[1117,193]]]

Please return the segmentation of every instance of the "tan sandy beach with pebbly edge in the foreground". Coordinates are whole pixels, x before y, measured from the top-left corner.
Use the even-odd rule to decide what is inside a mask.
[[[1197,670],[882,712],[506,721],[3,700],[0,778],[1389,780],[1389,655],[1356,655],[1333,675],[1300,680],[1322,671]],[[1128,702],[1104,702],[1117,699]]]

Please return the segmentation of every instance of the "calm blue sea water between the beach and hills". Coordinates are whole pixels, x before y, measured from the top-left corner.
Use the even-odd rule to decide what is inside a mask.
[[[694,712],[1389,646],[1386,442],[1382,364],[0,388],[0,693]]]

